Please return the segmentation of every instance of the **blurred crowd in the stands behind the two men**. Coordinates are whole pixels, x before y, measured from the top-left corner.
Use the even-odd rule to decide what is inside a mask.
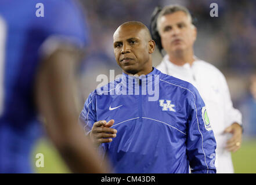
[[[174,3],[186,6],[195,20],[196,56],[215,65],[226,76],[235,108],[243,114],[244,135],[256,136],[256,1],[211,0],[94,0],[85,6],[91,45],[81,66],[81,90],[84,100],[100,82],[99,74],[121,74],[113,53],[113,33],[131,20],[150,25],[156,6]],[[211,17],[211,3],[218,4],[218,17]],[[154,53],[153,65],[162,57]]]

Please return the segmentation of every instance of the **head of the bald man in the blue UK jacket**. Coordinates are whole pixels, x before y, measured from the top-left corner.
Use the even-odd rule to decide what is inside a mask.
[[[144,29],[126,25],[117,29],[113,39],[117,64],[125,73],[143,73],[148,68],[152,69],[149,60],[150,53],[153,53],[149,46],[152,41],[147,40]]]

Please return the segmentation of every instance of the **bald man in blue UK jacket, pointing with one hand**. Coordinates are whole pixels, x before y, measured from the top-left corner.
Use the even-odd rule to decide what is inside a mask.
[[[196,88],[152,67],[144,24],[124,23],[113,39],[122,77],[89,95],[80,121],[115,172],[215,173],[214,133]]]

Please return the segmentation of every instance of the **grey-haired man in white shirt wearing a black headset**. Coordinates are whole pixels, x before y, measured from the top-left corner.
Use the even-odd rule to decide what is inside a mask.
[[[167,52],[157,69],[199,90],[217,141],[217,173],[233,173],[230,151],[241,146],[241,113],[233,108],[226,79],[215,66],[194,56],[197,29],[188,9],[170,5],[158,10],[158,15],[156,11],[152,16],[153,39],[160,52],[162,48]]]

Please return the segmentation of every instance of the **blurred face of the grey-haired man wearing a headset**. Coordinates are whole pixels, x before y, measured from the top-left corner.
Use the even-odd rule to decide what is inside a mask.
[[[185,12],[167,14],[160,18],[159,23],[162,46],[168,54],[193,48],[196,27]]]

